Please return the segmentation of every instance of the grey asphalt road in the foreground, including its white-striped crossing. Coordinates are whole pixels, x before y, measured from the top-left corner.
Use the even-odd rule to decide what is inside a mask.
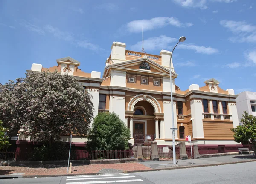
[[[255,184],[256,162],[110,175],[4,179],[0,184]]]

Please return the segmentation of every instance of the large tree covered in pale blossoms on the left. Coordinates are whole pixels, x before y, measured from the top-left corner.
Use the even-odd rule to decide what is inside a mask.
[[[0,94],[0,119],[10,129],[51,146],[61,135],[86,135],[93,119],[91,95],[76,78],[32,72],[9,81]]]

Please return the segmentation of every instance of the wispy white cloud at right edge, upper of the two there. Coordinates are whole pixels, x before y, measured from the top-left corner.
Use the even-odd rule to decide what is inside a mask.
[[[227,28],[235,37],[230,37],[232,42],[256,42],[256,26],[245,21],[221,20],[221,26]]]

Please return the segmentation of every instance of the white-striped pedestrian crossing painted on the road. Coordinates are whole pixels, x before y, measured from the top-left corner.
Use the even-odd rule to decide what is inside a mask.
[[[133,183],[150,184],[145,178],[134,174],[105,174],[105,175],[81,175],[67,176],[65,184],[111,184],[111,183]]]

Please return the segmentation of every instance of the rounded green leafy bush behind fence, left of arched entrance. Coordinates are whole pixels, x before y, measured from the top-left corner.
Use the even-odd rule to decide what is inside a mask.
[[[89,131],[87,150],[126,150],[130,130],[115,113],[99,113]]]

